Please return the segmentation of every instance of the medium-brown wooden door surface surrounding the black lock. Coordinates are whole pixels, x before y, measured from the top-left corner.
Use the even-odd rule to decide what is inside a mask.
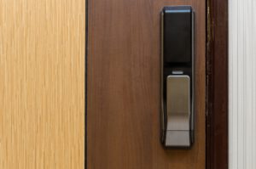
[[[160,144],[160,11],[195,9],[195,144]],[[88,169],[206,167],[204,0],[89,0]]]

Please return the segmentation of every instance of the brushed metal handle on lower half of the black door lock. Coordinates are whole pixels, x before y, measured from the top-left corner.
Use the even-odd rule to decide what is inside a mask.
[[[189,146],[190,115],[189,76],[167,76],[166,79],[166,145]]]

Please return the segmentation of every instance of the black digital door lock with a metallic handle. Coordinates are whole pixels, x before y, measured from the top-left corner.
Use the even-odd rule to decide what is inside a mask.
[[[165,147],[194,142],[194,12],[190,6],[161,12],[161,141]]]

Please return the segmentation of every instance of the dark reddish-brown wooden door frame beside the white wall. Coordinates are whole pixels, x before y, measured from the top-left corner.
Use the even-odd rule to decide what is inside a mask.
[[[207,169],[228,169],[228,0],[207,0]]]

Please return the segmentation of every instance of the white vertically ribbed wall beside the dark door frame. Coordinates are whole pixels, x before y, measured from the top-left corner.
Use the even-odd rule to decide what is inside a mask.
[[[229,2],[230,169],[256,169],[256,0]]]

